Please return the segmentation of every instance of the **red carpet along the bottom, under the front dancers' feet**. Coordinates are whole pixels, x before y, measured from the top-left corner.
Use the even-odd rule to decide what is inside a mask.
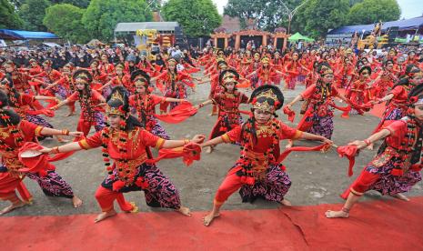
[[[204,212],[1,218],[2,250],[422,250],[423,197],[358,204],[349,219],[327,219],[340,205],[224,211],[210,227]]]

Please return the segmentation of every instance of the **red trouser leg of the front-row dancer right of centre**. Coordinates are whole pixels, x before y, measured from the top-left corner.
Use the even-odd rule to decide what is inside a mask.
[[[214,201],[216,205],[224,204],[229,196],[237,192],[237,190],[244,185],[244,183],[241,182],[241,177],[237,176],[237,171],[241,168],[242,167],[236,167],[230,170],[222,184],[220,184],[219,188],[217,188]]]

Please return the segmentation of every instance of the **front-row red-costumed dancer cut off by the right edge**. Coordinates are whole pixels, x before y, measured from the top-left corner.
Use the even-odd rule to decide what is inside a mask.
[[[351,208],[369,190],[408,201],[408,197],[402,193],[408,192],[421,180],[419,163],[423,138],[423,85],[418,85],[410,91],[408,107],[406,117],[396,120],[365,140],[348,144],[360,150],[379,139],[384,139],[378,155],[342,195],[347,199],[342,209],[328,210],[328,218],[347,218]]]

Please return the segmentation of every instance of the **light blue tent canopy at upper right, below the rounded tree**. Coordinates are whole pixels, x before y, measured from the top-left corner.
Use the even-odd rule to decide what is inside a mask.
[[[420,26],[423,26],[423,16],[405,19],[405,20],[398,20],[398,21],[390,21],[383,23],[382,31],[387,31],[390,27],[398,26],[398,30],[411,30],[411,29],[418,29]],[[350,26],[342,26],[336,29],[331,30],[327,33],[327,35],[337,35],[337,34],[347,34],[347,33],[358,33],[363,32],[370,32],[375,27],[375,24],[372,25],[350,25]]]

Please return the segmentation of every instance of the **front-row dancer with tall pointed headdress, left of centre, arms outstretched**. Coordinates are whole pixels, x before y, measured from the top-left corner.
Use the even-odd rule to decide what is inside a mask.
[[[102,213],[96,216],[95,222],[116,215],[113,204],[116,198],[123,200],[122,193],[140,190],[145,191],[148,206],[173,208],[185,216],[191,216],[189,208],[181,205],[176,187],[156,165],[147,163],[147,159],[151,158],[148,147],[174,148],[185,146],[189,140],[165,140],[143,129],[136,118],[129,115],[128,97],[121,86],[112,90],[107,100],[106,114],[110,126],[94,136],[43,150],[44,153],[65,153],[103,146],[108,174],[96,191]],[[203,140],[204,136],[194,136],[192,139],[195,143]],[[114,165],[110,164],[110,159],[114,160]],[[136,206],[129,202],[121,206],[126,212],[136,210]]]

